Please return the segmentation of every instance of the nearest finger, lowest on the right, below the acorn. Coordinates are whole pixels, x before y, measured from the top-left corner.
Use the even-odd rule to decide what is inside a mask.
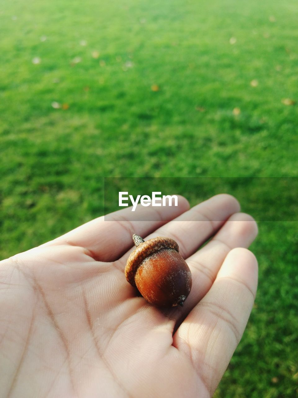
[[[244,248],[229,252],[205,297],[174,335],[213,394],[246,327],[257,290],[257,260]]]

